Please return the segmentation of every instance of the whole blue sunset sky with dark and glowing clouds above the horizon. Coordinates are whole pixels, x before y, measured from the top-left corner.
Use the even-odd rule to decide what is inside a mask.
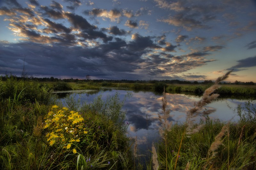
[[[1,0],[0,75],[256,82],[255,0]]]

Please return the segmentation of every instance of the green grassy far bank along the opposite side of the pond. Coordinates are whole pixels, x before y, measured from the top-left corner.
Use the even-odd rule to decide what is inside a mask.
[[[203,94],[203,92],[211,86],[211,84],[165,84],[163,82],[156,83],[94,83],[89,82],[46,82],[50,89],[54,91],[62,90],[99,90],[101,87],[128,88],[132,90],[160,91],[163,92],[191,92],[195,94]],[[221,85],[215,91],[222,95],[256,95],[256,85]]]

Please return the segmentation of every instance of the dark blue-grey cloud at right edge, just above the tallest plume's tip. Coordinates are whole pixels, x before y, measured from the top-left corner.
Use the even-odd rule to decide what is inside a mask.
[[[256,66],[256,55],[253,57],[248,57],[242,60],[237,60],[238,64],[235,66],[227,69],[227,70],[233,70],[240,71],[240,70],[246,70],[246,69],[240,69],[240,68],[248,68],[248,67],[255,67]]]

